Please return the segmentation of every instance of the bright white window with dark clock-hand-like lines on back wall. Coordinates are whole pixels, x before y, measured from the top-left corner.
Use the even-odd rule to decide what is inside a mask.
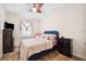
[[[29,38],[33,36],[33,24],[30,22],[23,21],[21,23],[22,38]]]

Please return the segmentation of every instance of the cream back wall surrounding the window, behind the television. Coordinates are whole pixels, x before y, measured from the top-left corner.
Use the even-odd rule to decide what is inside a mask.
[[[13,13],[10,13],[10,12],[7,12],[5,14],[5,21],[9,22],[9,23],[13,23],[14,24],[14,44],[15,46],[19,46],[20,42],[22,41],[21,40],[21,30],[20,30],[20,24],[21,24],[21,21],[26,21],[26,22],[30,22],[33,23],[33,35],[35,33],[38,33],[40,29],[39,29],[39,21],[38,20],[35,20],[35,18],[23,18],[21,17],[20,15],[17,14],[13,14]]]

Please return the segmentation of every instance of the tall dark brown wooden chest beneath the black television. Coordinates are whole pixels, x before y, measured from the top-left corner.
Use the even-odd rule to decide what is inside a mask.
[[[3,30],[3,54],[13,51],[12,30]]]

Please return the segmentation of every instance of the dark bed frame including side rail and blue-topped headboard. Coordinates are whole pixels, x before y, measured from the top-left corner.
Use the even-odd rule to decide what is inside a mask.
[[[48,54],[48,53],[50,53],[50,52],[53,52],[53,51],[58,51],[58,42],[59,42],[59,33],[58,31],[56,31],[56,30],[49,30],[49,31],[45,31],[45,34],[56,34],[57,35],[57,44],[52,48],[52,49],[49,49],[49,50],[45,50],[45,51],[41,51],[41,52],[39,52],[39,53],[35,53],[35,54],[33,54],[32,56],[29,56],[28,59],[27,59],[27,61],[36,61],[36,60],[38,60],[39,57],[41,57],[41,56],[44,56],[44,55],[46,55],[46,54]]]

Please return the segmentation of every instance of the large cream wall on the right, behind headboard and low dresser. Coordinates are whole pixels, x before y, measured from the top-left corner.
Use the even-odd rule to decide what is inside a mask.
[[[60,36],[73,39],[73,54],[86,60],[86,5],[66,4],[62,9],[53,9],[41,21],[41,31],[57,29]],[[51,7],[53,8],[53,7]],[[50,11],[47,8],[48,11]]]

